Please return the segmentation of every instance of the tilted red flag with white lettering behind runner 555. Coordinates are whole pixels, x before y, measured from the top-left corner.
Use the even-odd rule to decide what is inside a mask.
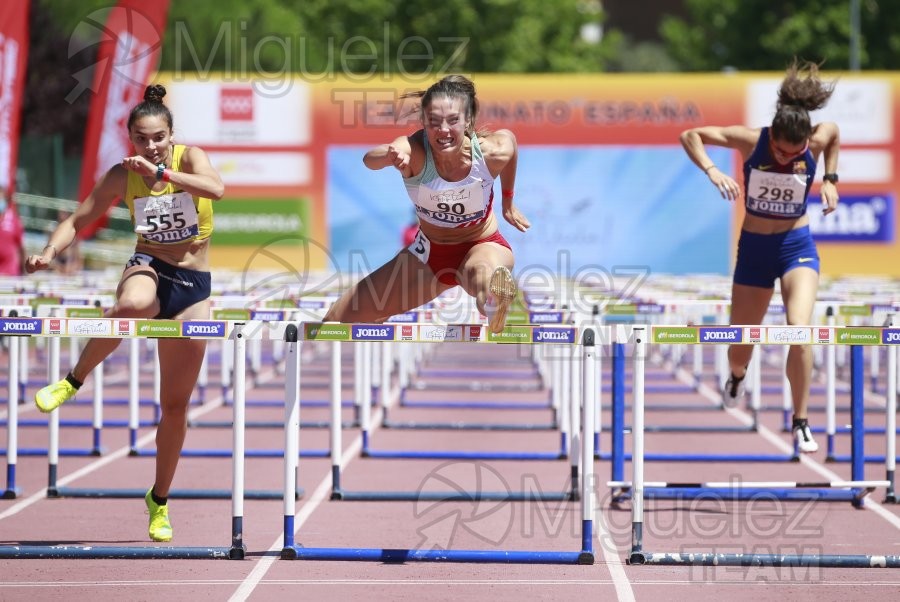
[[[97,62],[92,67],[94,97],[84,138],[80,200],[100,176],[131,154],[128,114],[144,99],[144,89],[156,70],[168,12],[169,0],[119,0],[114,8],[95,11],[79,25],[100,36]],[[69,97],[88,87],[85,72],[74,77],[79,85]],[[105,224],[106,217],[83,228],[79,237],[90,238]]]

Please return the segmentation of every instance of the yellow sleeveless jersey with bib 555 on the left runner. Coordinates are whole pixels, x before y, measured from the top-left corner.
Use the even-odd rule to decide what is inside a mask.
[[[172,170],[181,171],[181,159],[187,147],[172,146]],[[140,174],[129,171],[125,187],[125,205],[138,242],[177,244],[204,240],[212,235],[212,200],[180,190],[171,182],[154,192]]]

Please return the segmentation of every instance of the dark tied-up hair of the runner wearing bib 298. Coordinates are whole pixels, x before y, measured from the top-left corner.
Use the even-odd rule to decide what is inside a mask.
[[[825,106],[834,86],[819,79],[819,65],[794,59],[778,89],[772,137],[792,144],[806,142],[812,134],[809,112]]]

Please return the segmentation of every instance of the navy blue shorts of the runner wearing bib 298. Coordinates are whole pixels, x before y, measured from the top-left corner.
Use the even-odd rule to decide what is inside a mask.
[[[778,234],[741,231],[738,240],[735,284],[774,288],[775,280],[794,268],[819,272],[819,253],[809,226]]]

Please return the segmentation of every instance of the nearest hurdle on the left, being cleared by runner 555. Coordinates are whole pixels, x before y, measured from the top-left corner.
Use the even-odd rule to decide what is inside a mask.
[[[243,515],[244,515],[244,499],[249,492],[244,488],[244,405],[243,397],[246,387],[246,341],[247,335],[265,336],[270,334],[269,329],[262,328],[259,324],[242,324],[242,323],[214,323],[215,328],[207,329],[205,332],[188,334],[189,326],[196,324],[197,321],[180,321],[180,320],[113,320],[113,319],[72,319],[59,318],[54,319],[52,324],[50,320],[33,320],[28,318],[0,318],[0,330],[5,329],[5,323],[17,320],[18,324],[25,324],[30,336],[46,336],[50,338],[50,344],[54,343],[58,346],[60,338],[71,336],[79,326],[84,326],[86,321],[90,321],[94,336],[106,337],[125,337],[125,338],[148,338],[156,336],[179,336],[182,338],[192,336],[194,338],[229,338],[234,341],[234,387],[235,387],[235,404],[234,412],[234,431],[233,431],[233,462],[232,462],[232,489],[228,492],[231,498],[232,519],[231,519],[231,545],[228,547],[178,547],[178,546],[36,546],[36,545],[5,545],[0,546],[0,558],[4,559],[25,559],[25,558],[172,558],[172,559],[233,559],[240,560],[245,556],[245,546],[243,543]],[[27,322],[22,322],[28,320]],[[117,329],[113,332],[113,322],[125,323],[127,328],[124,330]],[[202,324],[209,325],[209,321],[202,321]],[[21,327],[19,327],[21,328]],[[275,329],[277,332],[279,329]],[[287,330],[287,325],[281,325],[282,332]],[[282,334],[282,336],[284,336]],[[51,354],[51,358],[53,355]],[[58,357],[58,354],[56,355]],[[58,362],[57,362],[58,363]],[[58,370],[58,365],[52,367]],[[75,488],[64,488],[57,486],[58,472],[58,410],[54,410],[50,414],[50,445],[49,445],[49,483],[48,497],[77,497],[81,493]],[[55,428],[54,428],[54,425]],[[129,492],[130,490],[121,490]],[[143,497],[145,491],[134,490],[128,497]],[[102,492],[98,492],[102,493]],[[191,492],[197,493],[197,492]],[[282,492],[283,495],[283,492]],[[96,495],[87,497],[124,497],[116,495],[114,491],[106,492],[106,495]],[[172,490],[169,497],[178,498],[186,497],[180,490]],[[225,496],[216,496],[225,497]],[[203,499],[201,497],[201,499]]]

